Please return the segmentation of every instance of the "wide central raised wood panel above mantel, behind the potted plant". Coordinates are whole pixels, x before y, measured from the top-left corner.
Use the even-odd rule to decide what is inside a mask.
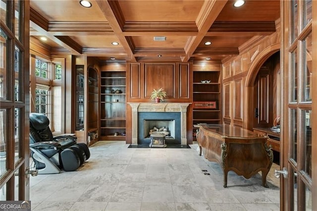
[[[167,98],[175,98],[175,64],[145,64],[144,96],[151,97],[153,89],[163,88]]]

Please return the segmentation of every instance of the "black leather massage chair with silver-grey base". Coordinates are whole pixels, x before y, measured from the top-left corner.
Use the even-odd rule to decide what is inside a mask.
[[[45,114],[30,113],[30,149],[39,174],[74,171],[90,158],[86,144],[76,143],[77,137],[53,137],[50,120]]]

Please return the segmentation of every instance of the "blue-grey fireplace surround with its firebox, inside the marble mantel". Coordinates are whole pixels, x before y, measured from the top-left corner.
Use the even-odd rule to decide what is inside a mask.
[[[138,112],[138,144],[151,143],[150,130],[164,128],[165,144],[181,144],[180,112]],[[155,131],[154,131],[155,132]],[[164,131],[158,131],[164,132]]]

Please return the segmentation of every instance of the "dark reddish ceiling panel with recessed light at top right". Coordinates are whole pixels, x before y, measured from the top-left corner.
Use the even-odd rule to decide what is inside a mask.
[[[246,0],[241,7],[234,7],[229,0],[216,21],[274,21],[280,16],[279,0]]]

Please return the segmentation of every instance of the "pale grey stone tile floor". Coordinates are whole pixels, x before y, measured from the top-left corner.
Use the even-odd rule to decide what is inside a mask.
[[[34,211],[279,211],[279,180],[228,174],[190,149],[128,148],[100,141],[77,171],[30,178]],[[205,175],[202,169],[208,170]]]

